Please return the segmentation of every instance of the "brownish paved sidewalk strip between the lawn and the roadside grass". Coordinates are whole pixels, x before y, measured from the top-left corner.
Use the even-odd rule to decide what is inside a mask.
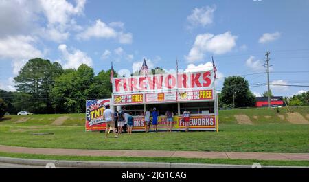
[[[72,155],[72,156],[109,156],[109,157],[183,157],[203,159],[258,159],[280,161],[309,161],[309,153],[264,153],[264,152],[199,152],[169,150],[84,150],[62,148],[27,148],[2,146],[0,152],[38,154],[38,155]]]

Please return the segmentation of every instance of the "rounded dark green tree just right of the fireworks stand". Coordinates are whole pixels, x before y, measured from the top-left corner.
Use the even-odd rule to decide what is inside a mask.
[[[220,102],[225,105],[233,105],[234,100],[235,107],[255,105],[255,95],[250,91],[249,83],[244,77],[229,76],[225,78],[220,94]]]

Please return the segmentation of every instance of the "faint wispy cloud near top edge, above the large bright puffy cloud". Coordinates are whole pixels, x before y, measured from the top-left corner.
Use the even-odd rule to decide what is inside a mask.
[[[187,21],[194,27],[209,25],[213,22],[214,11],[216,10],[216,5],[212,7],[205,6],[202,8],[194,8],[192,14],[187,16]]]

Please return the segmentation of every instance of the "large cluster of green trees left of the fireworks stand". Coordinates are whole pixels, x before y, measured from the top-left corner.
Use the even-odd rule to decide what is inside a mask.
[[[111,69],[95,75],[93,68],[63,69],[58,62],[29,60],[14,78],[16,91],[0,90],[8,113],[84,113],[89,99],[111,98]],[[117,73],[114,73],[117,76]]]

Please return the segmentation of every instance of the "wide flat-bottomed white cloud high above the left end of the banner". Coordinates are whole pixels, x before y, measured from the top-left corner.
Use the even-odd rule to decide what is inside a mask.
[[[117,24],[119,24],[119,22]],[[95,25],[87,27],[84,32],[81,32],[76,37],[82,40],[89,40],[89,38],[117,38],[119,43],[122,44],[130,44],[133,39],[131,33],[117,32],[113,27],[106,25],[106,23],[100,19],[95,21]]]

